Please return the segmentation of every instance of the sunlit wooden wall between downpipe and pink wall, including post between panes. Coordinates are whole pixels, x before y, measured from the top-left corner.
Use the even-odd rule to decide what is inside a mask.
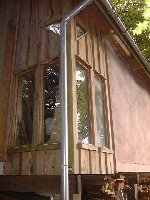
[[[81,174],[112,174],[115,169],[105,49],[105,33],[109,31],[109,26],[93,5],[90,8],[86,8],[76,17],[76,23],[80,24],[86,30],[85,35],[76,40],[74,53],[76,55],[76,60],[79,60],[81,65],[86,66],[87,69],[90,69],[89,87],[92,87],[94,90],[94,74],[101,77],[102,80],[105,80],[104,101],[108,146],[106,148],[99,147],[96,127],[93,122],[93,132],[91,133],[93,143],[79,143],[77,145],[77,155],[75,155],[75,158],[77,157],[79,162],[78,165],[75,166],[75,172]],[[94,110],[94,93],[91,95],[92,118],[90,118],[90,121],[92,122],[92,120],[95,120],[96,112]]]

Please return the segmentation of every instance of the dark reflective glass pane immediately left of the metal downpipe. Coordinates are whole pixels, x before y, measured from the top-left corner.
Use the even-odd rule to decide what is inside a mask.
[[[44,142],[60,142],[59,64],[44,70]]]

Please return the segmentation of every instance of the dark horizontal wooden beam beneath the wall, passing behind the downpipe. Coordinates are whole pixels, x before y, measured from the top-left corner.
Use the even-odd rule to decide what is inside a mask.
[[[78,187],[75,175],[69,175],[69,183],[73,185],[72,192],[75,193]],[[60,175],[0,176],[0,191],[60,194],[60,188]]]

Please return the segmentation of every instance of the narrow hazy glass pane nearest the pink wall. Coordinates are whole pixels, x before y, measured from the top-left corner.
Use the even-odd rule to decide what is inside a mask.
[[[100,146],[105,146],[105,125],[104,125],[104,104],[102,81],[95,77],[95,104],[96,104],[96,120],[97,134]]]

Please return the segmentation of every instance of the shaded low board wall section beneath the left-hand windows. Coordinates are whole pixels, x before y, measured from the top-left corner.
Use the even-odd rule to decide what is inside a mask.
[[[51,150],[10,152],[4,165],[7,175],[59,175],[60,147]]]

